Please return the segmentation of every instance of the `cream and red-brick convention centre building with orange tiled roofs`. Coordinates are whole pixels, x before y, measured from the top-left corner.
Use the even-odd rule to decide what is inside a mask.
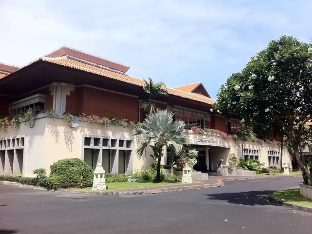
[[[127,121],[143,121],[142,102],[148,98],[142,79],[128,76],[130,67],[63,46],[23,67],[0,64],[0,116],[18,115],[28,109],[54,109],[37,114],[18,128],[0,120],[0,174],[33,176],[36,168],[45,168],[62,158],[78,157],[95,167],[98,162],[106,172],[131,174],[152,163],[151,149],[146,159],[135,154],[139,137],[132,136]],[[210,112],[215,100],[201,82],[176,88],[165,87],[168,96],[157,96],[159,109],[175,112],[187,127],[210,128],[220,132],[196,134],[190,131],[192,149],[200,152],[197,170],[216,170],[217,161],[227,163],[230,153],[242,158],[256,158],[266,166],[280,164],[280,146],[273,141],[235,142],[239,120],[225,119]],[[63,113],[74,117],[68,121]],[[103,126],[76,117],[77,113],[127,119]],[[64,121],[65,120],[65,121]],[[6,129],[6,130],[5,130]],[[3,131],[5,130],[5,131]],[[259,133],[261,139],[273,140],[273,132]],[[170,152],[164,149],[164,161]],[[290,162],[283,152],[283,162]],[[144,165],[145,163],[145,165]]]

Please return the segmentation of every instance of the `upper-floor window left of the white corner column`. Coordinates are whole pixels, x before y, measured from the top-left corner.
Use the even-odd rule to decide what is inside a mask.
[[[42,110],[45,107],[45,95],[37,94],[19,101],[12,102],[9,107],[10,115],[19,115],[29,109]]]

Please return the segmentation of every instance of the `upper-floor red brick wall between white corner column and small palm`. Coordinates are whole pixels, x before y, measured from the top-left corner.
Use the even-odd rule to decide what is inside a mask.
[[[125,118],[138,121],[138,98],[108,91],[81,87],[66,96],[66,112],[81,112],[101,117]]]

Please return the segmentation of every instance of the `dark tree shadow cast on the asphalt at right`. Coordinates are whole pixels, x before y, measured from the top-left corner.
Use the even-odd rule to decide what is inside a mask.
[[[223,193],[223,194],[206,194],[210,200],[227,201],[237,205],[276,205],[270,202],[269,195],[277,191],[248,191],[239,193]]]

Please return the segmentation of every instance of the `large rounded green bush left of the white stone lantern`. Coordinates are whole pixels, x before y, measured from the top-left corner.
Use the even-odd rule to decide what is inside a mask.
[[[83,181],[93,180],[93,169],[79,158],[66,158],[50,165],[50,177],[53,176],[59,176],[59,183],[79,183],[80,176]]]

